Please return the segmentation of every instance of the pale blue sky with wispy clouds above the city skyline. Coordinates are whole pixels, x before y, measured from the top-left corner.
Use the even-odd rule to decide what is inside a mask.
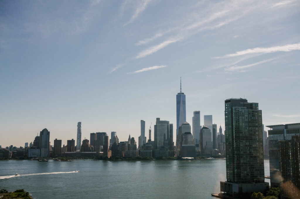
[[[67,144],[140,120],[176,129],[176,94],[224,126],[224,100],[266,125],[300,122],[300,1],[0,1],[0,145]],[[269,128],[265,127],[265,130]],[[175,133],[174,133],[175,132]],[[176,131],[174,130],[174,142]],[[153,130],[152,130],[152,138]]]

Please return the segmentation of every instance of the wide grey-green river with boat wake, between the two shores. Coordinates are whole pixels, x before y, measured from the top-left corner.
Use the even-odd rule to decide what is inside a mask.
[[[79,170],[79,172],[72,172]],[[20,174],[15,177],[15,174]],[[269,161],[265,160],[265,175]],[[0,161],[0,189],[25,189],[35,199],[213,199],[226,180],[226,160],[38,162]],[[270,182],[269,179],[265,179]]]

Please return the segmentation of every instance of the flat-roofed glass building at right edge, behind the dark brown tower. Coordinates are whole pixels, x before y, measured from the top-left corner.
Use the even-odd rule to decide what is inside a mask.
[[[269,161],[270,161],[270,182],[271,187],[279,187],[281,183],[280,174],[280,149],[278,141],[292,139],[292,136],[299,135],[300,123],[269,125]]]

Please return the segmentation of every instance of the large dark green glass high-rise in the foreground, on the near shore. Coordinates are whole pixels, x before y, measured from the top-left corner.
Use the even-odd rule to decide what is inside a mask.
[[[262,111],[247,99],[225,100],[226,179],[221,192],[234,196],[263,192],[265,182],[262,147]]]

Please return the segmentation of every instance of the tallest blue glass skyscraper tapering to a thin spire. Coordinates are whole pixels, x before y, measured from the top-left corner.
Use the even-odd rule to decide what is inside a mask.
[[[181,78],[180,78],[180,92],[176,95],[176,135],[178,135],[178,128],[186,121],[185,115],[185,95],[181,92]]]

